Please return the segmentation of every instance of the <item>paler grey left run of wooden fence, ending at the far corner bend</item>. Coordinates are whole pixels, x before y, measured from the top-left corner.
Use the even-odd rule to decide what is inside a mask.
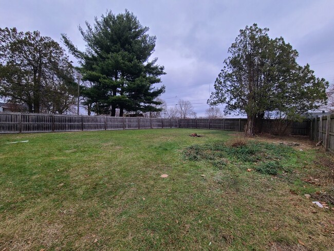
[[[0,113],[0,133],[179,128],[178,119]]]

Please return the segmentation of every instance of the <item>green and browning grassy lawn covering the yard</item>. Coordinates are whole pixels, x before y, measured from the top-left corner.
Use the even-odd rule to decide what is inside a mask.
[[[333,189],[333,159],[313,148],[222,144],[234,137],[0,135],[0,250],[333,250],[332,205],[304,196]],[[20,140],[29,142],[5,144]]]

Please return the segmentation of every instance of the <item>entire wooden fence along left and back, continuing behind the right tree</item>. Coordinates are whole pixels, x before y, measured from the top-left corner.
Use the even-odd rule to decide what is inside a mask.
[[[275,120],[264,121],[264,132],[270,133]],[[80,116],[36,113],[0,113],[0,133],[101,131],[153,128],[194,128],[244,131],[246,118],[167,119]],[[309,135],[310,120],[293,122],[291,134]]]

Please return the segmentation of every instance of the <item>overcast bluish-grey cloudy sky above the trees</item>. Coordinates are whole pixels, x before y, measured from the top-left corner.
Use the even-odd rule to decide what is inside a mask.
[[[84,49],[78,25],[92,24],[106,10],[133,12],[155,35],[154,57],[165,67],[162,98],[175,105],[189,100],[204,116],[213,83],[240,29],[257,23],[283,37],[298,50],[301,65],[309,63],[317,77],[334,82],[334,1],[126,1],[126,0],[0,0],[0,27],[39,30],[61,43],[61,33]],[[65,47],[62,43],[61,45]]]

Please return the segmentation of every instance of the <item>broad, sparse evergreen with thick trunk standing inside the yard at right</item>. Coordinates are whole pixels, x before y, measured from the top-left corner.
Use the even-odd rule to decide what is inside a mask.
[[[226,114],[247,114],[248,135],[261,131],[266,113],[296,120],[326,102],[328,82],[296,63],[298,52],[283,38],[270,39],[268,31],[256,24],[240,30],[208,100],[227,104]]]

